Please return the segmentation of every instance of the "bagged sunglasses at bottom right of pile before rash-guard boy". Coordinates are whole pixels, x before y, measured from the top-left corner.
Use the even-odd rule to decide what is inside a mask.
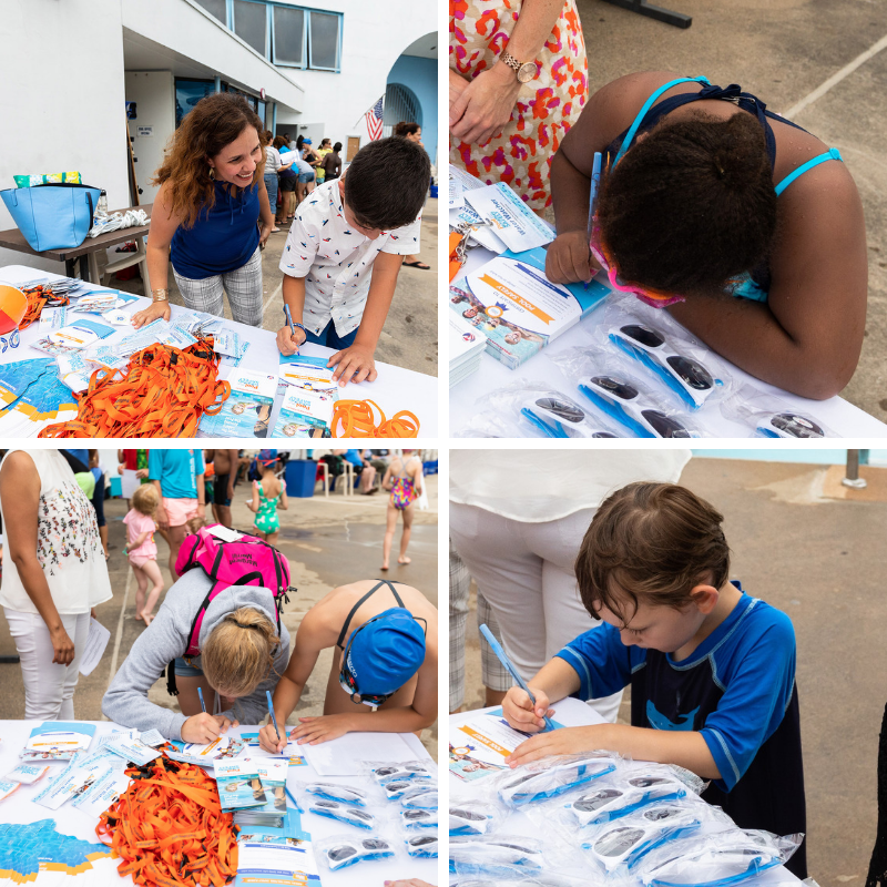
[[[732,828],[653,850],[638,875],[644,887],[731,887],[784,865],[803,840]]]

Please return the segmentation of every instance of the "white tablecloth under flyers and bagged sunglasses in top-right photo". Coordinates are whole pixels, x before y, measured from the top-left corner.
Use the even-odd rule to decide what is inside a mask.
[[[495,253],[483,247],[475,247],[468,253],[462,273],[470,274],[495,257]],[[568,395],[580,405],[588,405],[589,401],[580,392],[574,383],[570,381],[561,370],[548,359],[548,355],[561,354],[569,348],[580,345],[589,345],[589,327],[597,323],[601,306],[599,305],[581,323],[564,333],[539,354],[533,355],[527,363],[517,369],[508,369],[489,354],[481,355],[480,369],[450,389],[450,434],[461,431],[469,419],[477,412],[476,402],[483,395],[508,385],[513,385],[521,378],[531,383],[550,385],[554,390]],[[446,310],[451,310],[449,299]],[[788,394],[773,385],[755,379],[744,370],[730,364],[724,358],[720,358],[730,368],[737,387],[741,385],[753,385],[761,391],[774,395],[779,400],[791,405],[801,414],[812,415],[820,419],[835,434],[843,437],[887,437],[887,425],[878,421],[874,416],[864,412],[853,404],[848,404],[840,397],[832,397],[828,400],[808,400],[804,397]],[[640,374],[643,375],[643,374]],[[705,406],[693,418],[700,417],[704,421],[705,436],[711,437],[741,437],[748,438],[752,430],[738,422],[724,418],[717,404]],[[532,435],[528,427],[528,437]]]

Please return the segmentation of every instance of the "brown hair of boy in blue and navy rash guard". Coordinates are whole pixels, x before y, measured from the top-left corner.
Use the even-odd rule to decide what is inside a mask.
[[[575,561],[585,609],[605,606],[623,622],[640,598],[682,610],[700,582],[720,589],[730,577],[723,516],[676,483],[630,483],[594,514]],[[628,618],[626,618],[628,616]]]

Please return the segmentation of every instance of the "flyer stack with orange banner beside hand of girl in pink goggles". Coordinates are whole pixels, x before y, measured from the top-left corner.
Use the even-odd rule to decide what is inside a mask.
[[[598,281],[552,284],[546,251],[503,253],[450,286],[450,308],[487,336],[487,351],[510,369],[591,312],[610,289]]]

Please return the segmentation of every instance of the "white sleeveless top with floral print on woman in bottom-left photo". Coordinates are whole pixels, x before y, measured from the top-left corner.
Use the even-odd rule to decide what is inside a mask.
[[[86,613],[90,608],[111,598],[111,581],[95,511],[58,450],[27,452],[40,477],[37,559],[59,613]],[[6,520],[3,514],[4,523]],[[11,558],[3,564],[2,575],[0,604],[20,612],[37,613]]]

